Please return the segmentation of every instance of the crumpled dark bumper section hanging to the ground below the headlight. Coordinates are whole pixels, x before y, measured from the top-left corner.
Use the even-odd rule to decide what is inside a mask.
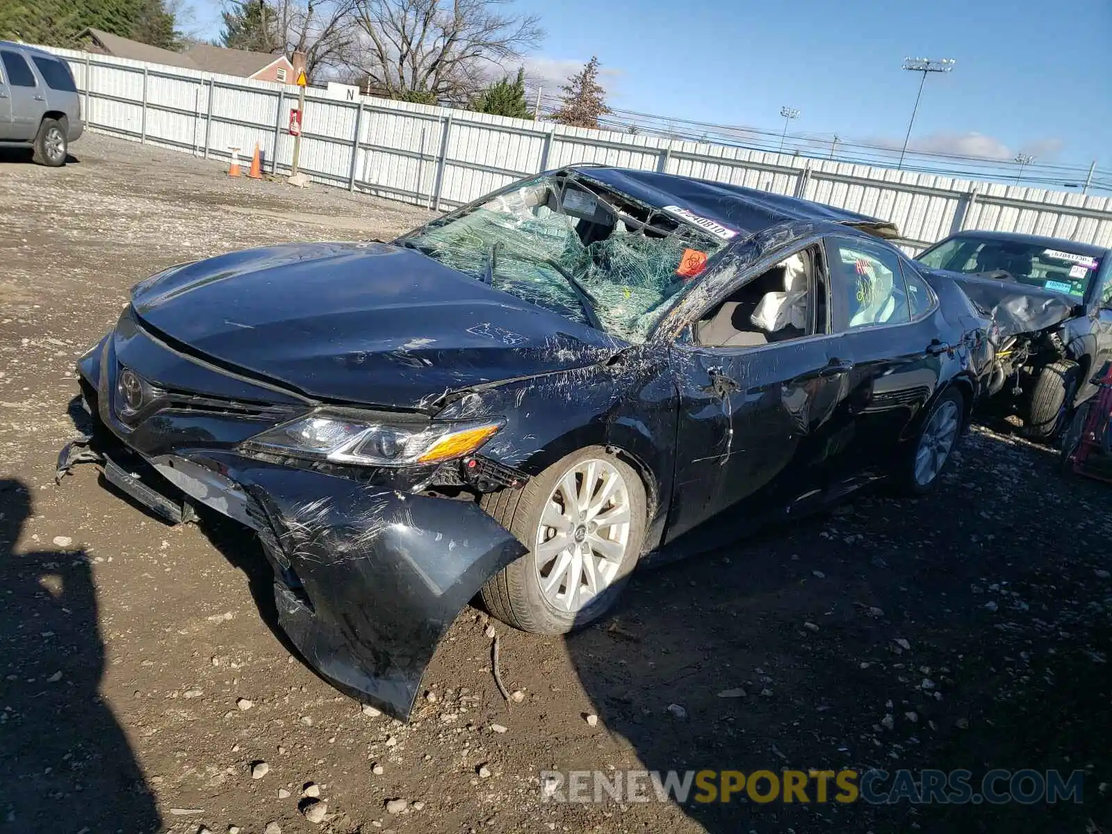
[[[338,688],[407,721],[445,631],[526,548],[471,502],[228,463],[265,514],[282,629]]]

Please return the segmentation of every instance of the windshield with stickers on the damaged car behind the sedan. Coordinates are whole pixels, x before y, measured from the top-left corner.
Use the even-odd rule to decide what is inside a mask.
[[[919,260],[933,269],[1015,280],[1075,298],[1084,298],[1100,267],[1096,258],[1070,251],[1065,241],[1059,248],[1048,248],[1040,244],[966,236],[951,238],[919,256]]]

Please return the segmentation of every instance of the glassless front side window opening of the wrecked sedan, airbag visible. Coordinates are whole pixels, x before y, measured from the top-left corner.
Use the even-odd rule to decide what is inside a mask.
[[[705,347],[757,347],[826,332],[826,287],[817,247],[781,260],[695,324]]]

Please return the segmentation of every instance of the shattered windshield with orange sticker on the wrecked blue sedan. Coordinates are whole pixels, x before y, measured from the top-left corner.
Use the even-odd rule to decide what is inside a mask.
[[[398,242],[627,341],[644,341],[725,244],[576,175],[520,183]]]

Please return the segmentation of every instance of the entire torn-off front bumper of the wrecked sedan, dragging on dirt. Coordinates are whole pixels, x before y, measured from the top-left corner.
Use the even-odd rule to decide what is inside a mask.
[[[141,332],[130,338],[110,337],[78,366],[106,477],[169,520],[188,496],[255,529],[274,568],[279,624],[305,661],[408,719],[444,632],[525,547],[469,500],[245,457],[230,438],[258,427],[236,416],[169,409],[126,426],[112,406],[120,361],[159,384],[198,373],[176,369],[191,360],[158,355]]]

